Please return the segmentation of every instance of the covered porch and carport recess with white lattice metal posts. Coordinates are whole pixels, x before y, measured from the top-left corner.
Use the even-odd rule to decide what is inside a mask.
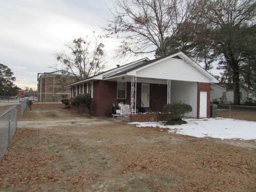
[[[128,75],[111,78],[111,81],[117,81],[117,94],[122,91],[119,87],[122,89],[122,84],[125,85],[126,96],[118,98],[118,102],[129,104],[131,114],[137,114],[138,107],[145,112],[161,112],[165,104],[181,101],[192,106],[193,111],[186,116],[197,117],[198,82]]]

